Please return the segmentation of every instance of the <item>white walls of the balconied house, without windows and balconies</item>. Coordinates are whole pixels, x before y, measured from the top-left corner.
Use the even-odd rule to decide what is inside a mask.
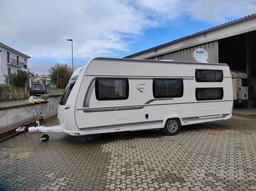
[[[7,69],[7,65],[6,65],[6,61],[7,61],[7,52],[10,52],[10,59],[17,59],[18,56],[18,60],[19,62],[24,62],[27,66],[28,66],[28,59],[26,59],[26,57],[23,57],[21,54],[17,54],[16,52],[13,52],[12,50],[6,49],[5,47],[1,47],[1,57],[0,57],[0,64],[1,64],[1,69],[0,69],[0,83],[5,83],[5,79],[6,77],[4,75],[7,76],[8,74],[8,69]],[[26,60],[24,60],[26,59]],[[17,70],[24,70],[27,71],[27,69],[24,68],[18,68],[16,66],[11,66],[9,65],[9,67],[11,68],[11,73],[13,74],[14,72],[17,72]]]

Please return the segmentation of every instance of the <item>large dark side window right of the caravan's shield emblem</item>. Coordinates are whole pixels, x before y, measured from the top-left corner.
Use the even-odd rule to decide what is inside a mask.
[[[179,98],[183,96],[182,79],[153,79],[154,98]]]

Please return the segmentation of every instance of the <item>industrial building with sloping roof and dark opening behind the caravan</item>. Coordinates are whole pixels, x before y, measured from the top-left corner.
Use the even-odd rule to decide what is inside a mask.
[[[208,52],[208,62],[226,63],[233,71],[247,73],[246,107],[255,107],[256,13],[131,54],[126,58],[196,62],[193,53],[197,48]]]

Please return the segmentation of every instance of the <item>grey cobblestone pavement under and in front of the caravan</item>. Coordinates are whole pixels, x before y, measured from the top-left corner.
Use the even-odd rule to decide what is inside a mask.
[[[256,117],[255,117],[256,118]],[[256,119],[0,143],[0,190],[256,190]],[[55,125],[55,119],[46,125]]]

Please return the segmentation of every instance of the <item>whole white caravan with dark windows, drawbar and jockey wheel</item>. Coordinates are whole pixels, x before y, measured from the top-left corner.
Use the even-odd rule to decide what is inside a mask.
[[[95,58],[74,71],[60,100],[60,126],[29,132],[163,129],[174,135],[182,125],[227,120],[232,108],[227,64]]]

